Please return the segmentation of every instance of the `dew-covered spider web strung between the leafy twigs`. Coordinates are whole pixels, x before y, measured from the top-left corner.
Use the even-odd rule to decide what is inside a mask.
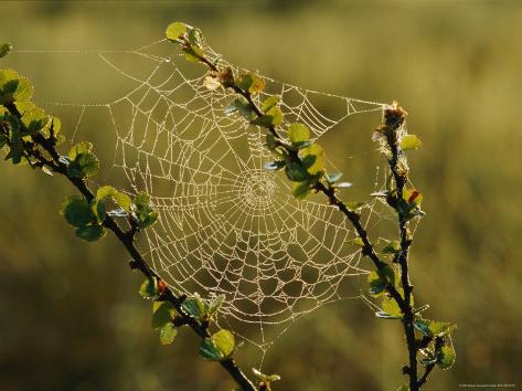
[[[263,352],[313,309],[363,297],[356,276],[367,271],[360,266],[360,252],[347,244],[355,234],[343,215],[321,198],[296,200],[284,173],[266,171],[273,156],[264,146],[265,131],[225,114],[233,93],[205,87],[205,70],[173,55],[171,43],[131,51],[18,52],[92,55],[134,84],[109,103],[47,104],[77,109],[76,141],[87,113],[106,110],[115,140],[106,178],[119,180],[129,194],[151,196],[159,219],[139,244],[175,294],[198,292],[205,299],[224,294],[219,323]],[[210,47],[205,53],[235,74],[244,72]],[[281,128],[303,123],[313,139],[348,117],[379,115],[385,107],[263,77],[266,89],[256,103],[280,95]],[[375,205],[364,207],[366,224],[383,218]]]

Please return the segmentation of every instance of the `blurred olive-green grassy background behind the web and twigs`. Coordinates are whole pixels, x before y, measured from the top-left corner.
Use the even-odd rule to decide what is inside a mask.
[[[424,140],[411,154],[428,213],[413,251],[417,300],[459,325],[457,364],[427,389],[522,387],[520,1],[4,1],[0,14],[1,41],[20,49],[134,49],[182,20],[232,63],[276,80],[400,101]],[[23,59],[2,62],[33,80],[36,101],[65,91],[105,101],[108,78],[71,83],[60,57]],[[324,147],[343,168],[343,144],[369,135],[333,134]],[[76,240],[58,215],[66,183],[8,162],[0,183],[0,390],[233,389],[190,332],[159,346],[122,249]],[[245,346],[238,360],[249,368],[257,355]],[[264,366],[281,374],[277,390],[395,390],[405,359],[398,325],[343,300],[298,321]]]

